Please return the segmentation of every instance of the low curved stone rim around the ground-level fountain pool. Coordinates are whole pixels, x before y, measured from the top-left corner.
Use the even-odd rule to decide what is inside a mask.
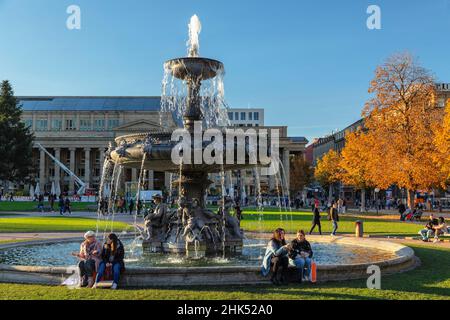
[[[125,236],[127,237],[127,236]],[[313,236],[312,238],[316,238]],[[392,259],[373,263],[362,264],[336,264],[319,265],[319,282],[343,281],[349,279],[367,278],[367,267],[378,265],[383,274],[393,274],[410,271],[420,265],[420,260],[415,256],[414,250],[403,244],[380,241],[367,238],[318,237],[318,242],[337,242],[354,244],[358,246],[382,246],[381,250],[395,252],[398,256]],[[79,240],[79,238],[77,238]],[[0,246],[0,250],[12,247],[41,245],[60,242],[74,242],[75,238],[50,239],[11,243]],[[314,241],[314,240],[313,240]],[[264,284],[268,278],[260,275],[260,267],[248,266],[205,266],[205,267],[128,267],[128,272],[121,280],[123,287],[154,287],[154,286],[185,286],[185,285],[239,285],[239,284]],[[218,273],[220,277],[218,277]],[[291,268],[291,274],[296,274],[295,268]],[[29,283],[60,285],[61,280],[72,273],[67,267],[45,266],[19,266],[0,264],[0,283]]]

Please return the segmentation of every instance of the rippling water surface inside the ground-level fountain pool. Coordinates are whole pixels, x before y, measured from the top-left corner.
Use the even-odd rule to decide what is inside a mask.
[[[80,241],[46,245],[22,246],[0,250],[0,264],[28,266],[73,266],[77,259],[70,252],[79,250]],[[185,256],[142,253],[140,242],[122,239],[125,246],[127,267],[190,267],[190,266],[259,266],[265,245],[260,240],[244,241],[242,256],[223,259],[222,255],[212,258],[189,259]],[[133,244],[134,243],[134,244]],[[315,260],[319,265],[375,263],[392,259],[396,255],[389,251],[337,243],[311,243]],[[218,258],[218,259],[217,259]]]

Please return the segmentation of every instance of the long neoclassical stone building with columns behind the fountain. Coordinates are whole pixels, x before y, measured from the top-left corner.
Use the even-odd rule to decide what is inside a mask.
[[[172,114],[160,112],[160,97],[50,96],[18,99],[23,110],[22,120],[35,135],[33,178],[46,193],[50,192],[52,183],[59,183],[61,191],[69,195],[74,194],[77,187],[73,179],[39,149],[37,143],[83,180],[87,192],[95,193],[100,184],[105,151],[116,137],[160,129],[161,124],[164,129],[176,127]],[[280,155],[288,177],[289,156],[303,153],[308,141],[302,137],[289,138],[285,126],[270,128],[280,130]],[[122,183],[137,181],[137,178],[136,169],[126,169]],[[144,178],[148,181],[149,190],[170,187],[168,173],[149,171]],[[267,189],[274,189],[274,179],[263,179]]]

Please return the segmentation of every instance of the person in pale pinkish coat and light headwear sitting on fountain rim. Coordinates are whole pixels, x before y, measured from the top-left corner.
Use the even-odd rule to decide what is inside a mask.
[[[84,241],[80,245],[80,252],[73,252],[72,255],[77,257],[80,262],[78,268],[80,270],[80,287],[89,288],[94,285],[94,272],[100,264],[100,255],[102,244],[95,238],[94,231],[88,231],[84,234]]]

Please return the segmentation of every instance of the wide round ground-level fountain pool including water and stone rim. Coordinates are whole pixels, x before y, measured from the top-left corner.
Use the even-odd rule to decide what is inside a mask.
[[[165,287],[186,285],[265,284],[260,262],[267,239],[261,235],[244,241],[243,254],[187,259],[180,255],[141,255],[139,246],[124,240],[127,270],[122,287]],[[411,270],[418,265],[414,251],[401,244],[351,237],[310,236],[318,263],[318,281],[364,279],[371,265],[383,275]],[[131,252],[134,250],[134,253]],[[66,239],[0,247],[0,282],[60,285],[74,274],[76,263],[69,255],[79,240]],[[290,270],[295,281],[296,270]]]

